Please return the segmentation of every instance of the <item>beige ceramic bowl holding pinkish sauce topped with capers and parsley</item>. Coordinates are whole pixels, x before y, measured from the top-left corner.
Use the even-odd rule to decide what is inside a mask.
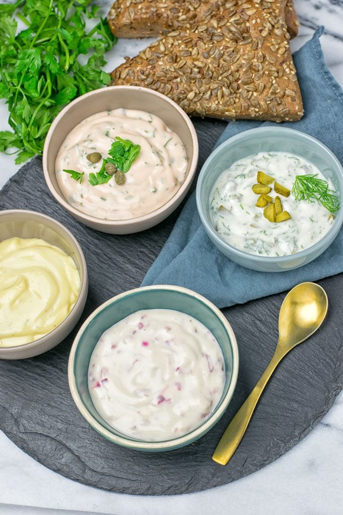
[[[186,178],[179,190],[166,204],[143,216],[128,220],[103,220],[86,215],[63,197],[55,174],[57,153],[68,133],[88,116],[112,109],[138,109],[159,116],[183,142],[188,167]],[[111,234],[130,234],[155,226],[167,218],[183,200],[195,175],[198,160],[198,142],[195,129],[187,114],[165,95],[147,88],[112,86],[86,93],[70,102],[53,121],[46,136],[43,150],[43,170],[53,197],[77,220],[98,231]]]

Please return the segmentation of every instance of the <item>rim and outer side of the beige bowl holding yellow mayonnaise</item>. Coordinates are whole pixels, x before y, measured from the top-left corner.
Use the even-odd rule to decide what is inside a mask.
[[[74,306],[71,308],[70,312],[65,317],[65,319],[62,320],[62,322],[55,329],[53,329],[49,333],[45,334],[41,338],[38,338],[37,340],[30,341],[28,344],[14,345],[14,346],[11,346],[11,347],[0,347],[0,355],[2,355],[2,354],[5,355],[7,353],[10,354],[10,353],[13,353],[13,352],[20,353],[23,350],[32,349],[32,348],[35,348],[35,347],[40,347],[41,345],[44,346],[46,344],[46,342],[51,337],[54,337],[54,336],[58,335],[61,331],[64,330],[64,328],[68,325],[70,319],[73,318],[75,312],[77,312],[77,310],[79,309],[80,304],[83,303],[83,299],[87,295],[87,291],[88,291],[87,264],[86,264],[86,260],[85,260],[82,248],[81,248],[79,242],[77,241],[76,237],[74,236],[74,234],[71,233],[69,231],[69,229],[67,229],[63,224],[61,224],[61,222],[59,222],[58,220],[55,220],[54,218],[51,218],[51,216],[45,215],[45,214],[40,213],[38,211],[32,211],[32,210],[28,210],[28,209],[6,209],[6,210],[3,210],[3,211],[0,211],[0,222],[1,222],[1,218],[3,216],[5,216],[5,215],[14,215],[14,216],[16,216],[16,215],[19,215],[19,214],[26,215],[27,217],[31,217],[33,215],[35,218],[37,218],[37,217],[41,218],[43,223],[46,222],[46,220],[49,220],[49,222],[52,225],[58,227],[59,229],[62,229],[62,231],[65,234],[67,234],[67,236],[70,238],[71,244],[78,250],[78,252],[80,254],[80,257],[81,257],[80,263],[79,263],[79,265],[80,265],[80,272],[79,272],[79,274],[80,274],[81,287],[80,287],[78,298],[76,299],[76,302],[75,302]],[[81,278],[81,272],[83,272],[83,281],[82,282],[81,282],[81,279],[82,279]]]

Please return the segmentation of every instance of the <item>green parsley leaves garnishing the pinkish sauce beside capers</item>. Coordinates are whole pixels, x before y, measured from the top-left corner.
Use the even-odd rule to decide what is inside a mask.
[[[140,152],[140,145],[136,145],[130,140],[123,140],[119,136],[116,136],[116,141],[114,141],[109,150],[109,155],[111,158],[103,159],[100,170],[94,174],[89,174],[88,182],[92,184],[92,186],[98,186],[98,184],[105,184],[109,182],[109,180],[113,177],[113,175],[109,175],[106,173],[105,165],[106,163],[114,164],[118,170],[122,171],[124,174],[129,171],[132,163],[137,159]],[[79,181],[80,184],[82,182],[82,177],[84,176],[84,172],[80,173],[75,170],[63,170],[67,174],[70,174],[71,178]]]

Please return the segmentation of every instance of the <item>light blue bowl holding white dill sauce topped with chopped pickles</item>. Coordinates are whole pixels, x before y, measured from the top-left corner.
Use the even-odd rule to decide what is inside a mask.
[[[210,193],[215,181],[224,170],[239,159],[257,152],[290,152],[319,168],[331,179],[339,192],[341,208],[330,230],[323,238],[301,252],[287,256],[260,256],[249,254],[229,245],[214,230],[210,220]],[[318,258],[334,241],[343,223],[343,168],[336,156],[320,141],[304,132],[285,127],[260,127],[232,136],[216,148],[206,160],[196,185],[196,204],[205,230],[211,241],[235,263],[262,272],[284,272],[299,268]]]

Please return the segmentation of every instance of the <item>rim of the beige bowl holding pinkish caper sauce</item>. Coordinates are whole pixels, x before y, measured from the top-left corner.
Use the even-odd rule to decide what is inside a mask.
[[[87,215],[86,213],[83,213],[82,211],[79,211],[78,209],[74,208],[72,205],[70,205],[65,198],[60,195],[55,186],[53,186],[52,181],[50,179],[49,171],[48,171],[48,152],[49,152],[49,145],[52,138],[52,133],[56,129],[56,126],[60,123],[60,121],[63,119],[64,115],[67,113],[67,111],[77,104],[82,103],[86,98],[92,98],[95,95],[98,95],[102,91],[120,91],[120,90],[132,90],[137,92],[145,92],[152,96],[157,96],[163,101],[165,101],[167,104],[172,106],[174,110],[180,115],[184,121],[186,122],[186,125],[188,127],[188,130],[191,135],[192,145],[193,145],[193,152],[189,163],[189,171],[188,174],[184,180],[184,182],[181,184],[180,188],[175,192],[175,195],[168,200],[165,204],[161,205],[159,208],[155,209],[154,211],[151,211],[150,213],[146,213],[145,215],[137,216],[136,218],[128,218],[124,220],[105,220],[103,218],[97,218],[96,216]],[[163,119],[163,118],[161,118]],[[66,136],[65,136],[66,137]],[[59,114],[56,116],[56,118],[53,120],[48,133],[45,138],[44,142],[44,148],[43,148],[43,173],[44,178],[46,181],[46,184],[50,190],[50,193],[53,197],[63,206],[63,208],[71,213],[73,216],[81,218],[83,220],[87,220],[88,222],[92,222],[93,224],[101,224],[103,227],[121,227],[121,226],[135,226],[139,225],[141,222],[145,222],[147,220],[150,220],[151,218],[158,217],[161,213],[167,211],[179,198],[182,197],[183,194],[185,194],[190,187],[194,176],[196,172],[197,162],[198,162],[198,153],[199,153],[199,145],[198,145],[198,139],[197,134],[194,128],[194,125],[191,122],[191,119],[187,115],[187,113],[180,108],[176,102],[168,98],[166,95],[163,95],[162,93],[158,93],[157,91],[151,90],[150,88],[143,88],[141,86],[125,86],[125,85],[118,85],[118,86],[107,86],[106,88],[99,88],[97,90],[89,91],[88,93],[84,93],[83,95],[79,96],[78,98],[75,98],[72,100],[67,106],[65,106]],[[55,170],[54,170],[55,173]]]

